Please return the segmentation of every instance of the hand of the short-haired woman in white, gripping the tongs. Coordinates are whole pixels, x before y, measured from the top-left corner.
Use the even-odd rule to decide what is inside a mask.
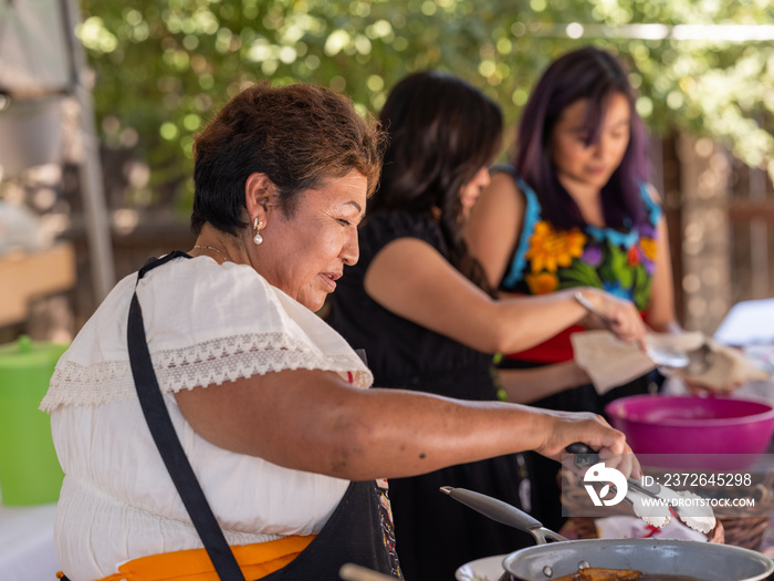
[[[576,442],[586,444],[593,450],[598,450],[599,459],[611,468],[617,468],[624,476],[642,476],[639,461],[626,443],[626,436],[596,414],[587,412],[550,412],[552,426],[545,443],[535,450],[548,458],[559,460],[565,448]]]

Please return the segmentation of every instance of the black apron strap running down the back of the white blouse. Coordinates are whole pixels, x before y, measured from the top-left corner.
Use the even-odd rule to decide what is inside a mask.
[[[137,273],[137,283],[149,270],[165,264],[169,260],[178,257],[191,258],[185,252],[176,250],[160,259],[151,259]],[[220,529],[210,505],[207,502],[205,492],[199,486],[194,469],[191,468],[186,453],[180,445],[180,440],[172,426],[169,412],[164,403],[164,396],[156,380],[148,343],[145,338],[145,324],[143,322],[143,310],[137,299],[137,283],[135,293],[132,297],[129,307],[129,322],[127,329],[127,340],[129,350],[129,363],[132,375],[134,376],[137,396],[139,398],[145,419],[150,428],[154,442],[158,447],[164,464],[171,476],[175,487],[182,499],[182,504],[188,510],[188,515],[196,527],[205,549],[212,561],[215,570],[221,581],[244,581],[237,559],[231,552],[231,548],[226,542],[223,531]]]

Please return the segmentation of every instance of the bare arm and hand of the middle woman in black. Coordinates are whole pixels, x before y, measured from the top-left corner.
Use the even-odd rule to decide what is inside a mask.
[[[587,312],[574,299],[578,291],[613,321],[610,330],[620,339],[639,340],[645,333],[634,303],[600,289],[494,300],[438,250],[414,238],[380,250],[364,284],[388,311],[484,353],[522,351],[580,321]]]

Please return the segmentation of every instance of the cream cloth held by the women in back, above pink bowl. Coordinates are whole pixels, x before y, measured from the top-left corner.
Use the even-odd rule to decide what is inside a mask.
[[[597,393],[604,394],[640,377],[656,367],[656,363],[639,345],[616,339],[610,331],[586,331],[571,335],[575,362],[594,383]],[[721,345],[703,333],[648,333],[646,346],[658,349],[672,346],[690,351],[707,343],[714,354],[712,365],[699,374],[681,370],[666,370],[665,374],[680,377],[708,391],[728,391],[747,381],[765,381],[768,374],[745,357],[738,349]]]

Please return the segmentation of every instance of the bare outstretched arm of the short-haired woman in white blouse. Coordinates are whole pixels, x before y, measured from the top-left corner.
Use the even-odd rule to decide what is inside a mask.
[[[300,470],[363,480],[412,476],[526,449],[558,457],[583,440],[625,449],[593,414],[358,390],[333,373],[284,371],[176,394],[211,444]]]

